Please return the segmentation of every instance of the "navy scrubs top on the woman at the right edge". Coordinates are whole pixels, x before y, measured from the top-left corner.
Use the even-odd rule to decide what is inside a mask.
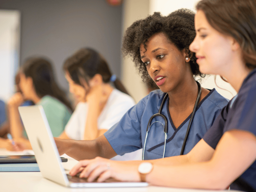
[[[212,128],[203,137],[212,148],[216,148],[222,135],[237,129],[256,136],[256,69],[245,79],[238,94],[221,110]],[[256,161],[231,185],[230,189],[256,191]]]

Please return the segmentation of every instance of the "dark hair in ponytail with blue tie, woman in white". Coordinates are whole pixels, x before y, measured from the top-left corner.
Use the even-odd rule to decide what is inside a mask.
[[[79,77],[89,84],[88,81],[94,75],[100,74],[104,83],[113,82],[116,89],[129,95],[121,81],[112,75],[107,61],[91,48],[78,50],[64,62],[63,69],[69,73],[76,84],[82,85]]]

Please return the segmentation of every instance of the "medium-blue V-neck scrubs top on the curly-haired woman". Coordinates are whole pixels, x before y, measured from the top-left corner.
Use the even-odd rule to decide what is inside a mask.
[[[165,94],[160,90],[150,92],[137,105],[128,110],[119,123],[104,133],[118,155],[143,148],[148,121],[152,115],[158,113]],[[169,98],[165,101],[162,110],[162,114],[166,116],[168,124],[165,157],[180,155],[190,119],[189,115],[179,127],[175,128],[169,113],[168,103]],[[227,103],[228,100],[213,89],[198,104],[184,154],[187,154],[203,138],[204,134],[212,126],[215,117],[218,116],[220,110]],[[152,120],[151,124],[153,124],[148,132],[146,143],[145,160],[163,157],[164,126],[156,121],[164,124],[162,117],[157,116]]]

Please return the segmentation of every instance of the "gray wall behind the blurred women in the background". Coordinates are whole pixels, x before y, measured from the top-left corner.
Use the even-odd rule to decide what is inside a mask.
[[[31,55],[47,56],[66,90],[63,62],[84,46],[98,50],[120,77],[122,6],[105,0],[0,0],[0,9],[21,12],[20,63]]]

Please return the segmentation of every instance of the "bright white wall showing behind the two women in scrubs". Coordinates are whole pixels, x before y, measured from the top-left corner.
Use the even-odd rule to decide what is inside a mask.
[[[188,8],[196,12],[195,5],[198,0],[149,0],[149,13],[161,12],[163,15],[180,9]],[[236,91],[230,84],[223,81],[220,76],[216,77],[216,84],[214,82],[214,75],[206,76],[202,79],[202,87],[213,89],[215,88],[221,95],[231,99],[236,95]],[[220,87],[220,88],[219,88]],[[225,89],[225,90],[223,90]],[[228,91],[227,91],[228,90]],[[231,93],[230,93],[231,92]]]

